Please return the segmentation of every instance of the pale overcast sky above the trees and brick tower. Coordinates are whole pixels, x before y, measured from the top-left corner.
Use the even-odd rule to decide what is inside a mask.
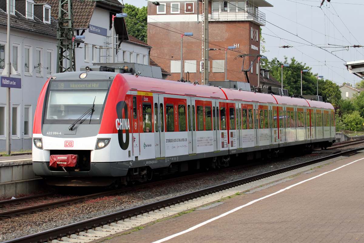
[[[120,1],[136,7],[147,6],[146,0]],[[363,0],[331,0],[330,3],[325,0],[321,8],[322,0],[266,1],[274,6],[259,8],[265,13],[262,36],[268,51],[264,55],[269,60],[294,57],[312,67],[314,74],[339,85],[347,82],[354,86],[361,81],[348,72],[344,63],[364,60],[364,48],[343,46],[364,45],[360,17],[364,12]],[[293,47],[280,48],[287,45]]]

